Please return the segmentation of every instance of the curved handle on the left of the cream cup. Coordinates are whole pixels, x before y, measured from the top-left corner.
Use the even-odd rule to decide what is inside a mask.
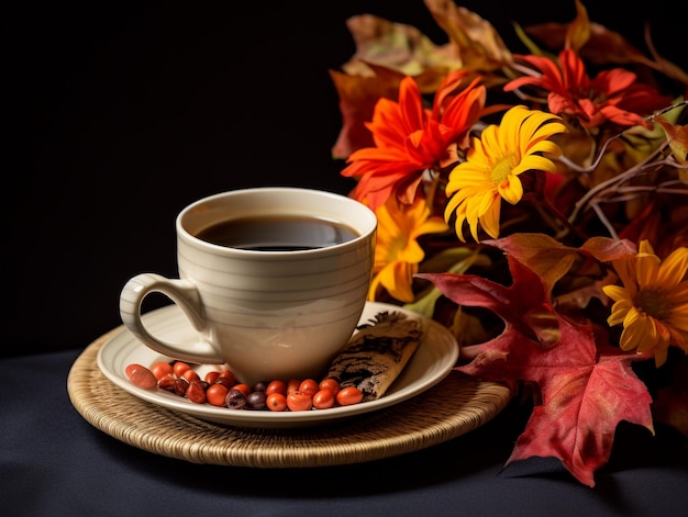
[[[165,342],[153,336],[141,318],[141,305],[151,293],[158,292],[175,302],[196,330],[206,329],[203,305],[196,284],[189,280],[168,279],[155,273],[141,273],[130,279],[120,294],[120,316],[124,326],[153,350],[173,359],[195,363],[221,363],[223,360],[209,342]]]

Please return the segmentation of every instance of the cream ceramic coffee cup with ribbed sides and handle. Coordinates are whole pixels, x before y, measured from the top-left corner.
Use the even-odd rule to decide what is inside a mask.
[[[282,233],[282,243],[270,243],[322,246],[301,250],[242,249],[198,237],[217,223],[246,217],[315,217],[355,235],[333,244],[307,238],[297,224],[296,231]],[[179,278],[132,278],[120,296],[122,322],[153,350],[193,363],[226,363],[249,385],[320,376],[346,345],[365,306],[376,228],[368,207],[325,191],[270,187],[199,200],[176,220]],[[314,241],[303,241],[309,238]],[[198,330],[196,342],[164,342],[147,331],[142,303],[152,292],[184,310]]]

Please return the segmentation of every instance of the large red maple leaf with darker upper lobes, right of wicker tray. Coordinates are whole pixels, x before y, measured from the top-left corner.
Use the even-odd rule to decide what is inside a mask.
[[[511,255],[507,259],[511,286],[471,274],[419,277],[457,304],[489,308],[504,322],[503,333],[478,345],[477,357],[456,370],[540,387],[542,404],[534,407],[507,464],[554,457],[578,481],[595,486],[593,473],[609,460],[619,422],[654,434],[652,398],[630,367],[639,356],[596,344],[590,324],[573,323],[552,307],[547,282]]]

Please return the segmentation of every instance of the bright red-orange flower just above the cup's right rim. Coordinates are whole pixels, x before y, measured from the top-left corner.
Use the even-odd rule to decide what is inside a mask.
[[[399,87],[399,102],[380,99],[366,127],[375,147],[354,151],[343,176],[359,181],[352,196],[371,210],[395,195],[413,203],[423,171],[437,168],[448,157],[452,144],[460,142],[481,115],[486,89],[475,79],[464,90],[454,90],[467,72],[451,72],[440,86],[432,110],[423,108],[420,89],[412,77]]]

